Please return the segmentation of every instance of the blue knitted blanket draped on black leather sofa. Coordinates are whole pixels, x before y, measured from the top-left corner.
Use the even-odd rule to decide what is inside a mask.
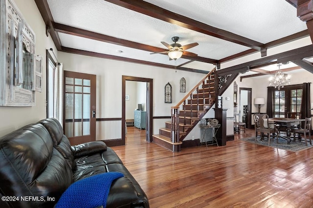
[[[120,172],[106,172],[76,181],[62,194],[55,208],[105,208],[112,181],[123,176]]]

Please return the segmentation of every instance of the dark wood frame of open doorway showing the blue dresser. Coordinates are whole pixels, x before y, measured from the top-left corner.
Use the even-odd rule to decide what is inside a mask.
[[[153,79],[151,78],[143,78],[136,76],[122,76],[122,145],[125,145],[125,95],[126,95],[126,81],[138,81],[138,82],[147,82],[149,86],[147,86],[147,124],[146,124],[146,141],[152,142],[152,132],[153,132]],[[124,124],[124,125],[123,125]]]

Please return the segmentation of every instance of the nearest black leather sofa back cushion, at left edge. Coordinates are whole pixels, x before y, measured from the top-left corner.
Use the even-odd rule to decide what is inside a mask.
[[[72,183],[72,170],[41,124],[0,138],[0,190],[5,196],[38,196],[9,202],[12,207],[52,206]],[[47,201],[46,197],[55,201]],[[45,200],[41,200],[44,197]]]

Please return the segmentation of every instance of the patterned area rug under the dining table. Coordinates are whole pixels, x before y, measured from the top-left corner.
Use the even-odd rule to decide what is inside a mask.
[[[254,143],[254,144],[258,144],[258,145],[268,146],[268,138],[267,137],[265,137],[265,139],[261,140],[261,137],[258,136],[256,139],[256,143],[255,143],[255,137],[254,136],[243,138],[240,140]],[[293,138],[291,138],[291,143],[287,144],[286,139],[284,139],[282,137],[278,137],[278,144],[277,144],[277,141],[275,138],[275,140],[270,141],[270,147],[282,149],[282,150],[288,150],[288,151],[301,151],[301,150],[305,150],[305,149],[312,147],[312,145],[310,145],[309,141],[308,141],[308,146],[305,146],[305,142],[303,142],[303,141],[301,142],[301,141],[292,141],[292,140],[293,140]]]

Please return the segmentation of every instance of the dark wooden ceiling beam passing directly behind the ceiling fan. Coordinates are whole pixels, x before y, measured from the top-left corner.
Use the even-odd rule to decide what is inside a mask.
[[[53,27],[54,27],[54,30],[59,33],[65,33],[68,35],[78,36],[82,38],[89,38],[89,39],[107,42],[107,43],[111,43],[115,45],[135,48],[135,49],[139,49],[143,51],[150,51],[150,52],[156,53],[156,52],[163,52],[167,50],[164,48],[158,48],[155,46],[141,44],[138,42],[133,42],[133,41],[129,41],[129,40],[121,39],[121,38],[114,38],[112,36],[107,36],[107,35],[103,35],[100,33],[95,33],[95,32],[91,32],[88,30],[83,30],[80,28],[71,27],[71,26],[56,23],[56,22],[53,24]],[[164,54],[164,55],[167,56],[167,54]],[[212,64],[217,63],[217,60],[211,59],[211,58],[205,58],[205,57],[199,57],[199,56],[196,56],[196,57],[181,56],[181,57],[189,59],[189,60],[193,60],[193,61],[201,61],[201,62],[212,63]]]

